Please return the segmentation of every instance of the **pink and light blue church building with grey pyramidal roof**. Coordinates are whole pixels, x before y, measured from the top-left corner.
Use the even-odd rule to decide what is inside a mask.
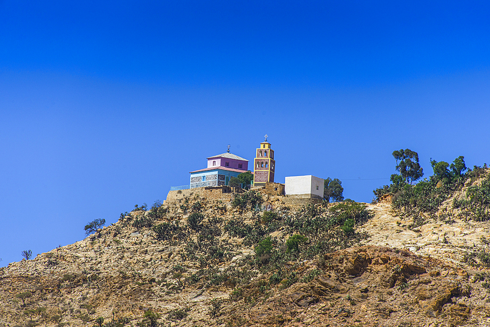
[[[225,153],[207,159],[207,168],[191,172],[190,188],[228,185],[231,177],[237,177],[248,170],[248,160],[230,153],[230,146]]]

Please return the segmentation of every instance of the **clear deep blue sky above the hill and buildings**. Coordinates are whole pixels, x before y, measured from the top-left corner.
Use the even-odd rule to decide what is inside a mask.
[[[371,201],[392,151],[490,162],[488,1],[0,0],[0,265],[165,200],[206,157]],[[386,178],[386,179],[374,179]],[[369,180],[371,179],[371,180]],[[374,179],[374,180],[372,180]]]

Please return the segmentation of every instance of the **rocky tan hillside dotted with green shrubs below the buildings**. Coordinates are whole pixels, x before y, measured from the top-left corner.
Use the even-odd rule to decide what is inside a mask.
[[[489,223],[451,204],[464,187],[417,224],[390,197],[288,207],[252,191],[135,208],[0,269],[0,325],[490,326]]]

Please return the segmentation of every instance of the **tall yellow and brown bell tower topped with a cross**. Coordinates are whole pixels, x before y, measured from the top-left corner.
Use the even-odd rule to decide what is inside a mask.
[[[275,160],[274,151],[266,140],[260,144],[253,161],[253,185],[264,186],[267,182],[274,182]]]

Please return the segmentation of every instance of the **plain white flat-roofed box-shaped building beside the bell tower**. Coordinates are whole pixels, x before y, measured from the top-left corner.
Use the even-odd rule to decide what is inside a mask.
[[[323,182],[312,175],[286,177],[284,192],[298,198],[323,199]]]

